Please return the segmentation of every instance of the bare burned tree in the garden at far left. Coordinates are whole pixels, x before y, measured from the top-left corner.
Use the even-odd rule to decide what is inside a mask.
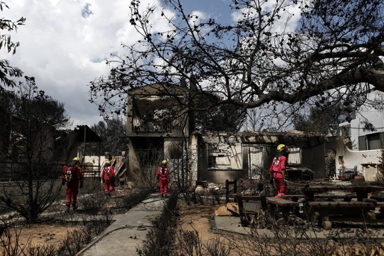
[[[51,165],[64,150],[56,131],[68,125],[63,104],[38,90],[33,77],[25,77],[16,92],[8,92],[6,119],[9,135],[2,143],[0,202],[32,223],[54,201],[61,172]]]

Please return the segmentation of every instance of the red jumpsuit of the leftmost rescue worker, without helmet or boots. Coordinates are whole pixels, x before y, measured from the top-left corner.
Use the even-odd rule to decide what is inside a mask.
[[[68,171],[70,173],[68,173]],[[67,177],[70,175],[70,179]],[[65,165],[62,170],[61,180],[66,182],[66,199],[65,205],[76,205],[77,202],[77,193],[78,193],[78,182],[80,181],[80,185],[83,183],[83,175],[82,169],[77,164],[74,165]]]

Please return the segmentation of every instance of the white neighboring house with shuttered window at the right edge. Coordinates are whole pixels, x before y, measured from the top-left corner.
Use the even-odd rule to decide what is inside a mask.
[[[343,169],[353,169],[363,174],[366,181],[376,178],[376,166],[384,148],[383,95],[381,92],[368,94],[369,101],[381,104],[361,106],[355,119],[339,124],[343,130],[349,131],[347,134],[327,136],[327,147],[336,155],[336,175],[340,175]]]

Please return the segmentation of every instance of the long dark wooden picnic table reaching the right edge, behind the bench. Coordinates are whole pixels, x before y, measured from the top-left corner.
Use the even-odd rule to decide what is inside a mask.
[[[352,191],[356,193],[357,201],[362,202],[363,198],[368,198],[368,193],[373,191],[384,191],[382,186],[308,186],[301,189],[307,202],[314,201],[315,193],[329,191]]]

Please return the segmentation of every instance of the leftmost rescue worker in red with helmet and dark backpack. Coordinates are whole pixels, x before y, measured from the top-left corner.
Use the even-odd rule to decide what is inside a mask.
[[[73,161],[65,165],[62,170],[61,184],[65,185],[66,182],[66,212],[69,212],[70,204],[72,203],[73,210],[77,209],[77,193],[78,183],[80,182],[80,188],[83,185],[82,169],[80,167],[80,159],[78,157],[73,158]]]

